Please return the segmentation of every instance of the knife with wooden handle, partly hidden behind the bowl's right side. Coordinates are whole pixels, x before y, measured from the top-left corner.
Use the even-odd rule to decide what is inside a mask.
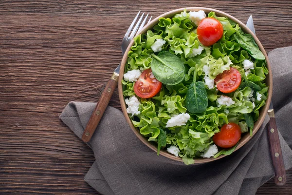
[[[254,34],[256,34],[252,15],[247,20],[246,26],[251,31],[253,31]],[[270,121],[267,124],[267,132],[268,132],[270,153],[271,153],[272,162],[273,162],[274,171],[275,171],[274,182],[276,185],[284,185],[286,183],[286,170],[284,166],[284,160],[283,160],[272,101],[268,110],[268,115],[270,117]]]

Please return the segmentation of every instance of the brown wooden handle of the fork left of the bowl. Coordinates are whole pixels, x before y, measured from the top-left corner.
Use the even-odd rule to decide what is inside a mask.
[[[102,92],[101,97],[99,98],[99,101],[87,123],[87,126],[85,128],[85,131],[82,135],[82,140],[84,142],[89,142],[92,135],[94,134],[94,131],[102,118],[104,112],[106,111],[106,108],[109,104],[110,98],[114,92],[114,89],[116,88],[118,84],[118,78],[119,76],[112,74],[106,88]]]

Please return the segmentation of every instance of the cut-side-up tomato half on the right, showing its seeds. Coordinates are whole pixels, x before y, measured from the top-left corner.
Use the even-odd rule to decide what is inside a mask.
[[[220,92],[230,93],[239,87],[241,75],[237,69],[230,67],[230,70],[224,70],[223,73],[217,75],[215,82]]]

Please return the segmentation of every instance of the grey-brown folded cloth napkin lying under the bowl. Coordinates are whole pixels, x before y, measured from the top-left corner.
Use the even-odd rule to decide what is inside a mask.
[[[269,53],[273,102],[285,168],[292,167],[292,47]],[[70,102],[60,119],[81,138],[95,103]],[[274,175],[266,124],[243,147],[194,165],[157,156],[132,132],[121,111],[108,107],[88,145],[95,162],[85,176],[105,195],[254,195]]]

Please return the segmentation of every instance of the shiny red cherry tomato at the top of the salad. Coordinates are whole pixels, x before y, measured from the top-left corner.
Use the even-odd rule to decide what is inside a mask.
[[[199,23],[197,34],[198,39],[203,45],[210,46],[221,39],[223,26],[217,19],[205,18]]]

